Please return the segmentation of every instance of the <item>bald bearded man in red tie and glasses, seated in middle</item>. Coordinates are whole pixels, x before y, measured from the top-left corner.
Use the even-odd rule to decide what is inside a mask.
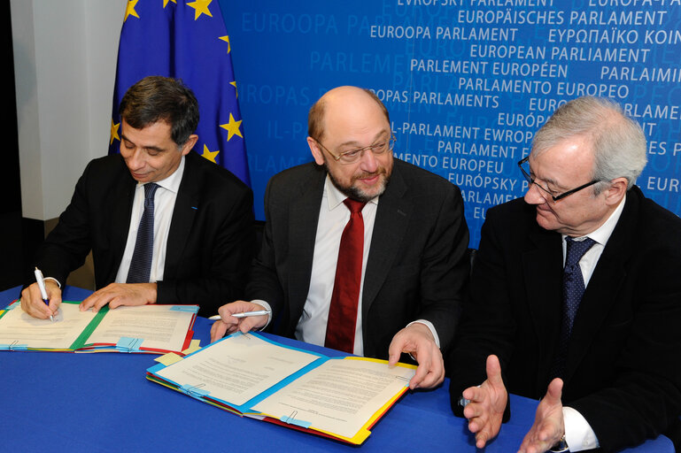
[[[468,278],[460,190],[393,158],[388,111],[370,91],[330,90],[313,105],[314,163],[275,175],[246,288],[221,307],[212,340],[271,323],[277,334],[367,357],[419,364],[411,388],[442,382]],[[236,319],[243,311],[272,319]]]

